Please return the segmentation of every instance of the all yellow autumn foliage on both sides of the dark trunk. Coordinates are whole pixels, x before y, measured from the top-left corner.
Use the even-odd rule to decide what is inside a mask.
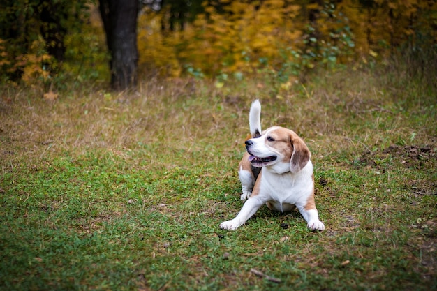
[[[429,0],[205,1],[193,21],[170,27],[171,13],[164,6],[159,12],[145,8],[138,16],[140,76],[274,72],[288,84],[313,68],[367,64],[406,50],[435,51],[437,45],[437,1]],[[100,18],[91,19],[91,26],[101,26]],[[43,38],[13,60],[0,40],[0,68],[22,73],[27,84],[51,82],[59,66],[77,80],[97,78],[93,70],[107,70],[106,47],[97,45],[103,36],[101,27],[67,36],[64,64],[49,57]],[[67,61],[77,55],[81,61]]]

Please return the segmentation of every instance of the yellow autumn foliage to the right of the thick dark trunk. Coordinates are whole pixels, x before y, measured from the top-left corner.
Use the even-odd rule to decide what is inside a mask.
[[[214,76],[277,70],[293,63],[314,68],[317,63],[339,64],[388,57],[394,49],[419,41],[436,43],[436,1],[308,0],[211,2],[184,29],[165,30],[168,11],[140,15],[140,68],[177,76],[184,69]],[[316,13],[310,22],[309,14]],[[292,53],[291,53],[292,52]],[[300,62],[300,63],[299,63]]]

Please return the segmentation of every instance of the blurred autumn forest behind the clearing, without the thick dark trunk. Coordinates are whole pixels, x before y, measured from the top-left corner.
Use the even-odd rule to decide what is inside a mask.
[[[1,1],[0,82],[109,85],[101,3]],[[435,0],[143,0],[137,15],[139,80],[188,75],[220,87],[263,74],[290,86],[346,66],[402,61],[419,77],[437,68]]]

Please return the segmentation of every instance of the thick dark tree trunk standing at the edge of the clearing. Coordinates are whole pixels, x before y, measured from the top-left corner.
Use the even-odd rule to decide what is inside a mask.
[[[137,83],[138,0],[99,0],[106,43],[111,54],[111,85],[124,90]]]

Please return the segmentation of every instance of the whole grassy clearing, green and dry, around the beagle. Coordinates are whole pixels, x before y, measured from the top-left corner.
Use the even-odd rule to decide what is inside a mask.
[[[435,290],[437,92],[393,80],[3,87],[0,289]],[[309,145],[324,232],[267,207],[218,227],[242,206],[253,98]]]

